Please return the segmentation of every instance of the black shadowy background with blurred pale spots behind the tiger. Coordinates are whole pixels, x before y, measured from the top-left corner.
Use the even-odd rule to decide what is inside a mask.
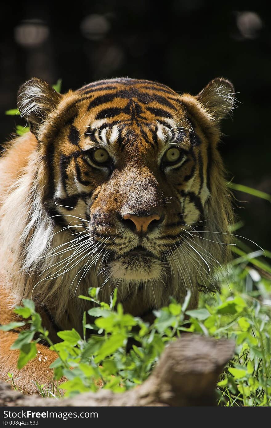
[[[192,94],[223,76],[233,82],[239,101],[233,120],[223,122],[228,178],[270,193],[271,18],[268,2],[244,4],[2,3],[0,142],[9,139],[15,123],[24,123],[4,112],[16,107],[18,87],[33,76],[49,83],[61,77],[62,92],[103,77],[129,76]],[[235,212],[245,223],[239,234],[270,250],[270,202],[235,194]]]

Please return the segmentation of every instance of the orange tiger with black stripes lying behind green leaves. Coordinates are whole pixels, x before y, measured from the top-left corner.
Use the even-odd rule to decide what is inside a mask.
[[[198,95],[128,77],[60,94],[32,78],[18,90],[30,131],[0,159],[0,322],[18,320],[32,299],[52,342],[82,333],[90,287],[151,322],[171,299],[198,305],[231,251],[231,195],[219,152],[221,120],[235,104],[232,83],[211,80]],[[22,327],[23,328],[23,327]],[[38,343],[20,372],[1,331],[0,377],[36,392],[57,355]]]

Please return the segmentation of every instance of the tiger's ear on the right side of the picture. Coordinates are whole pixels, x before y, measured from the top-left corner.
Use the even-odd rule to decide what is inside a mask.
[[[223,77],[217,77],[211,80],[195,98],[211,113],[214,120],[220,122],[234,107],[234,95],[233,84]]]

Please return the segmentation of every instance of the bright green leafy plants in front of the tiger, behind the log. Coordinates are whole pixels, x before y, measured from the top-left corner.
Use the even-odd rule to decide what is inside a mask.
[[[61,384],[66,396],[96,391],[99,380],[102,388],[114,392],[142,383],[167,343],[182,337],[186,331],[235,339],[235,357],[218,382],[218,404],[268,405],[271,404],[271,280],[250,268],[251,259],[251,254],[235,259],[230,272],[226,276],[221,274],[220,292],[202,295],[199,309],[187,310],[188,293],[183,305],[172,299],[169,306],[154,311],[156,318],[151,325],[123,313],[120,303],[116,306],[117,290],[108,305],[99,302],[99,288],[90,288],[89,296],[80,298],[96,303],[88,311],[95,321],[86,324],[84,314],[83,337],[75,329],[65,330],[57,333],[62,342],[51,343],[31,300],[24,300],[24,306],[15,309],[16,314],[30,321],[13,322],[1,328],[29,325],[29,330],[22,331],[12,345],[13,349],[20,349],[19,369],[36,356],[36,342],[48,341],[58,354],[51,365],[55,379],[63,375],[68,378]],[[91,333],[89,339],[87,331]],[[39,333],[39,339],[33,341],[35,333]],[[129,352],[128,339],[136,341]],[[15,382],[13,378],[12,381]]]

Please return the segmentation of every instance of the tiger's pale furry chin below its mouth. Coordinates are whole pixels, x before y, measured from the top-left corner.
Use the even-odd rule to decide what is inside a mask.
[[[128,254],[114,259],[108,266],[111,278],[125,282],[148,282],[163,277],[163,262],[152,256]]]

